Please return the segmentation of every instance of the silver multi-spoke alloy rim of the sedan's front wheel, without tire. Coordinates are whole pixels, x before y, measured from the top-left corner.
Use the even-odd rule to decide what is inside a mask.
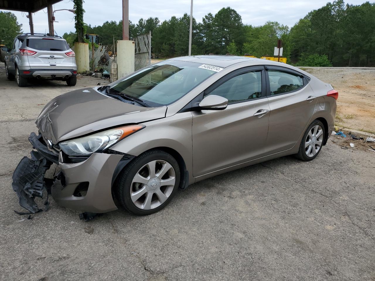
[[[135,174],[130,187],[130,198],[139,209],[151,210],[168,199],[174,185],[175,172],[172,165],[164,160],[150,161]]]

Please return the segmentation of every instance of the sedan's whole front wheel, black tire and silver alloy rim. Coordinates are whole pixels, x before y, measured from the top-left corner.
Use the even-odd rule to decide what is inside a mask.
[[[152,163],[155,163],[154,166]],[[155,167],[153,174],[150,167]],[[179,184],[180,167],[177,161],[165,151],[151,150],[135,158],[120,174],[118,197],[127,211],[136,215],[150,215],[168,205]]]

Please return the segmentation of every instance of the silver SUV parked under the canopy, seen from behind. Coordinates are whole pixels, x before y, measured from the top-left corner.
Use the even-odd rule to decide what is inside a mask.
[[[16,78],[19,87],[26,87],[29,78],[77,83],[75,53],[60,36],[18,35],[5,57],[5,72],[9,80]]]

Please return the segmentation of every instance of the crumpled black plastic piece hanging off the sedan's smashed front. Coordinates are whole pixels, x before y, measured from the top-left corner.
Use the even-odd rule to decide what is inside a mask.
[[[31,151],[31,159],[22,158],[17,168],[13,172],[12,188],[20,199],[20,205],[36,213],[41,211],[34,199],[43,197],[43,189],[49,189],[44,181],[46,170],[51,167],[52,162],[44,158],[39,152]],[[47,195],[48,196],[48,195]]]

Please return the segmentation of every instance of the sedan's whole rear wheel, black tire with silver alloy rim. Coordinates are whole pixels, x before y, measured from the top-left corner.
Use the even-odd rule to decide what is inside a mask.
[[[299,151],[296,154],[297,158],[303,161],[311,161],[317,157],[322,150],[325,135],[323,123],[314,120],[303,134]]]

